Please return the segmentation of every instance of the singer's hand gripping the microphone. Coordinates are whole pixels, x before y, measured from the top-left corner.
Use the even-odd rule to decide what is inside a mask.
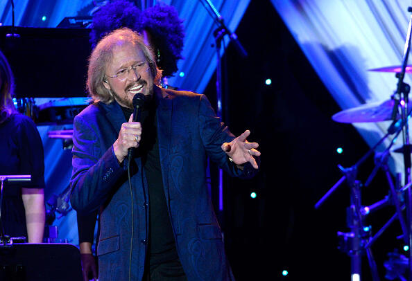
[[[122,163],[124,158],[128,156],[128,149],[130,147],[139,147],[141,141],[141,124],[132,120],[133,114],[130,116],[128,123],[121,125],[119,137],[113,144],[114,154],[119,163]]]

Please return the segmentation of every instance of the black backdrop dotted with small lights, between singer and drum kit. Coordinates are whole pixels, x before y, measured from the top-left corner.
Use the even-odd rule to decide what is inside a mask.
[[[369,147],[352,125],[332,121],[341,109],[269,0],[250,1],[236,33],[248,57],[241,58],[231,45],[225,55],[225,123],[235,135],[250,129],[249,141],[260,144],[262,156],[255,179],[226,180],[221,224],[234,275],[237,280],[350,280],[350,257],[338,251],[336,235],[349,232],[349,188],[343,183],[320,209],[314,205],[341,179],[337,165],[354,165]],[[216,75],[205,94],[215,101]],[[365,182],[373,167],[372,156],[359,168],[358,179]],[[368,206],[388,192],[380,170],[362,188],[362,203]],[[366,221],[372,233],[394,212],[386,207],[372,213]],[[381,280],[389,252],[396,248],[407,255],[396,239],[401,234],[395,221],[372,246]],[[284,270],[289,274],[282,275]],[[366,256],[363,273],[363,280],[371,280]]]

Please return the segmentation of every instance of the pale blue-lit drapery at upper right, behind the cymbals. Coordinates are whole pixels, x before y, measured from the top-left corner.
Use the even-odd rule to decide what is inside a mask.
[[[411,1],[272,0],[316,73],[342,109],[389,100],[394,73],[368,69],[401,65]],[[411,75],[404,82],[411,84]],[[313,93],[316,95],[316,93]],[[354,123],[369,145],[386,134],[390,122]],[[388,145],[387,140],[385,145]],[[402,145],[399,138],[395,146]],[[379,147],[384,149],[384,147]],[[403,172],[403,157],[392,154]]]

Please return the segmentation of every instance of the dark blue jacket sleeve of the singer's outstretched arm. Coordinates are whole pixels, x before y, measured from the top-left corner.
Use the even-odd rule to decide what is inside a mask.
[[[233,141],[235,136],[229,131],[220,118],[214,112],[209,100],[205,95],[200,95],[199,105],[199,128],[200,137],[205,146],[207,155],[221,169],[225,170],[230,176],[237,176],[241,179],[249,179],[257,174],[257,169],[250,163],[245,163],[243,170],[237,168],[237,165],[229,160],[228,155],[223,152],[221,145]],[[259,159],[258,159],[259,165]]]

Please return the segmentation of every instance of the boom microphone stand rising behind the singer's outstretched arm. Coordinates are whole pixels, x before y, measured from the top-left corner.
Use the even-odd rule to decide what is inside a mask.
[[[221,40],[225,35],[229,35],[230,41],[234,43],[235,48],[240,53],[242,57],[247,57],[248,53],[245,51],[243,46],[240,44],[239,40],[237,39],[237,35],[232,33],[229,28],[227,28],[224,24],[224,19],[213,6],[210,0],[200,0],[200,3],[205,7],[209,15],[214,19],[215,24],[218,25],[218,28],[214,30],[214,38],[216,41],[216,100],[217,100],[217,110],[216,114],[221,120],[228,122],[227,118],[225,118],[228,114],[228,107],[227,107],[227,96],[223,96],[222,90],[222,73],[223,68],[221,66]],[[222,98],[225,100],[224,105],[222,106]],[[223,118],[224,117],[224,118]],[[219,212],[223,212],[223,170],[218,170],[218,209]]]

